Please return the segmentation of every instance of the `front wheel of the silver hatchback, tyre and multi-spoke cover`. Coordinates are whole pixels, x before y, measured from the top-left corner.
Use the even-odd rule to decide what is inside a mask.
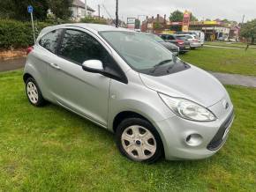
[[[117,126],[116,139],[119,151],[133,161],[154,163],[162,157],[161,137],[144,119],[125,119]]]

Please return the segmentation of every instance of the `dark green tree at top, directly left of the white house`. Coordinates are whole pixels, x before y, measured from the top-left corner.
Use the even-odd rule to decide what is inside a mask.
[[[72,0],[48,0],[49,9],[56,18],[69,19],[72,16]]]

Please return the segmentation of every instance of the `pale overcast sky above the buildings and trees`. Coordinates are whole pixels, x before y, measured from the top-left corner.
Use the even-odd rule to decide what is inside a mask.
[[[95,14],[97,4],[104,4],[111,17],[115,18],[116,0],[87,0]],[[256,18],[256,0],[119,0],[119,18],[125,21],[127,17],[137,18],[138,15],[155,17],[159,13],[169,16],[170,11],[177,9],[192,11],[199,19],[228,18],[241,22],[244,14],[245,21]],[[109,17],[103,8],[101,15]]]

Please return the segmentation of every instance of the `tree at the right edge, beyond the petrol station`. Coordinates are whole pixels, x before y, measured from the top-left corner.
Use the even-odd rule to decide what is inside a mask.
[[[256,38],[256,18],[248,21],[241,27],[241,36],[251,39],[251,43],[254,44]]]

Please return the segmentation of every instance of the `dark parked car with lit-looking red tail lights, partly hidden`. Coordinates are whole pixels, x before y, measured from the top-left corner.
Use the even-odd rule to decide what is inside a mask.
[[[176,37],[176,35],[174,35],[174,34],[162,33],[162,34],[159,34],[159,36],[162,38],[163,41],[171,42],[171,43],[174,43],[175,45],[177,45],[177,47],[179,48],[180,54],[184,54],[184,53],[187,53],[188,51],[190,51],[189,41],[179,40]]]

